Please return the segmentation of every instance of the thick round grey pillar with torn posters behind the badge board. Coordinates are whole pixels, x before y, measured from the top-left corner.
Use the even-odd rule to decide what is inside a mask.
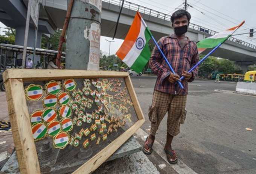
[[[101,0],[74,1],[67,28],[66,69],[99,70],[101,7]]]

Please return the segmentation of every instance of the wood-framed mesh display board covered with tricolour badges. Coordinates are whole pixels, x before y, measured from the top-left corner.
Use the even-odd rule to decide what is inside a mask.
[[[91,173],[145,122],[126,72],[8,69],[3,77],[21,174]]]

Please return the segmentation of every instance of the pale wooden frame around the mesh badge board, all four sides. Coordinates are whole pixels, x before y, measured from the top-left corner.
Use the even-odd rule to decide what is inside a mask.
[[[91,173],[97,169],[108,157],[111,156],[126,140],[128,140],[145,122],[142,109],[134,92],[134,88],[128,73],[115,71],[85,71],[85,70],[32,70],[32,69],[8,69],[3,73],[8,102],[8,111],[12,125],[12,135],[17,152],[21,174],[40,174],[37,151],[30,126],[29,112],[26,105],[23,82],[60,80],[66,78],[107,78],[123,77],[126,87],[134,104],[138,121],[122,135],[117,137],[107,147],[90,160],[80,166],[73,174]],[[33,164],[33,165],[31,165]]]

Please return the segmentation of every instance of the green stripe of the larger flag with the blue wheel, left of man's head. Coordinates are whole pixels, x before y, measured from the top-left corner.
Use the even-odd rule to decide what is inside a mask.
[[[139,57],[137,57],[136,61],[131,66],[131,69],[133,69],[136,73],[141,73],[141,71],[146,66],[151,56],[151,51],[148,45],[148,41],[151,39],[151,36],[150,36],[151,33],[147,28],[148,27],[146,27],[146,30],[145,30],[145,38],[146,38],[145,47],[141,51]]]

